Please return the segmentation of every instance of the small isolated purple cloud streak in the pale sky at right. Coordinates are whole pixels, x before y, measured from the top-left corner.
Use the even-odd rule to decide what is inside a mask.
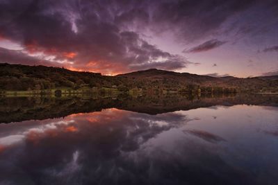
[[[183,50],[183,53],[199,53],[203,51],[208,51],[211,49],[218,48],[219,46],[225,44],[226,42],[219,41],[218,39],[211,39],[199,46],[195,46],[192,49]]]

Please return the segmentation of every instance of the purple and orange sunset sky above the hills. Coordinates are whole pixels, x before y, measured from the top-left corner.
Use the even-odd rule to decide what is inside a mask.
[[[278,1],[0,0],[0,62],[278,75]]]

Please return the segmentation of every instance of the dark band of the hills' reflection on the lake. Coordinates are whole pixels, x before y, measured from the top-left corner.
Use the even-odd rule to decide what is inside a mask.
[[[181,94],[160,96],[118,96],[113,98],[1,98],[0,123],[60,118],[70,114],[97,112],[117,108],[146,114],[161,114],[214,105],[278,106],[278,96],[265,94],[222,94],[218,96],[189,96]]]

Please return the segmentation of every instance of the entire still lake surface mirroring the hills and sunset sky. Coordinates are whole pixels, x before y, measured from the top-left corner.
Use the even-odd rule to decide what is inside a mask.
[[[278,95],[0,98],[0,184],[277,184]]]

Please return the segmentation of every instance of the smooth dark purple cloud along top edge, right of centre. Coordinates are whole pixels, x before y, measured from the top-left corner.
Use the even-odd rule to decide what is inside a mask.
[[[255,3],[253,0],[163,1],[155,8],[153,19],[165,29],[177,30],[180,39],[192,42],[215,33],[229,17]]]

